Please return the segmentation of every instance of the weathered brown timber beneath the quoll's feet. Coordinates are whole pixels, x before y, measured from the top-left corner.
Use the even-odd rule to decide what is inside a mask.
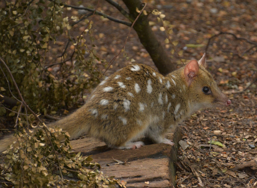
[[[104,175],[126,181],[126,187],[174,187],[176,172],[174,162],[177,160],[178,141],[181,135],[180,129],[174,132],[174,135],[169,134],[167,138],[173,138],[175,146],[152,144],[144,140],[148,145],[139,149],[117,150],[110,149],[105,143],[89,137],[72,140],[71,144],[75,152],[93,155],[94,161],[101,165]],[[125,164],[117,165],[113,159]]]

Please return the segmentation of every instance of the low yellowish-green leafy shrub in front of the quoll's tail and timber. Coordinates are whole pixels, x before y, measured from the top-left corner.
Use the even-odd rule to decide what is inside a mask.
[[[29,118],[33,121],[33,117]],[[45,125],[26,131],[21,126],[15,133],[16,143],[4,152],[1,176],[19,187],[114,187],[113,177],[105,177],[100,165],[91,156],[82,157],[71,152],[69,134]],[[64,136],[61,143],[58,137]],[[51,143],[51,144],[50,144]],[[6,182],[3,186],[9,186]]]

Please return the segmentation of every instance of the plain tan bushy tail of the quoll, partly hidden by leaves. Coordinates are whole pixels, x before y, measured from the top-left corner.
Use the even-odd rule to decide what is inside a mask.
[[[48,124],[47,127],[49,128],[59,127],[63,131],[67,131],[70,135],[70,138],[77,138],[84,133],[88,133],[89,126],[86,122],[86,118],[84,118],[87,116],[87,114],[84,113],[83,109],[84,108],[82,107],[78,109],[76,112],[74,112],[73,114]],[[63,140],[64,137],[60,137],[59,139]],[[0,153],[5,151],[7,147],[15,141],[17,141],[17,139],[15,136],[13,136],[13,134],[4,136],[0,140]]]

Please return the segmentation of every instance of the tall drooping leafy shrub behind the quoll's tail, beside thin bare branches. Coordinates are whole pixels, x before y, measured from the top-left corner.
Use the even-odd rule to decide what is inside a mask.
[[[72,25],[63,17],[61,1],[5,1],[0,9],[0,57],[6,62],[21,90],[24,100],[36,111],[49,113],[62,105],[71,106],[83,94],[99,83],[102,73],[98,63],[105,65],[85,43],[90,37],[91,22],[85,31],[72,39],[69,31]],[[72,18],[75,19],[76,16]],[[59,72],[54,74],[46,68],[49,51],[57,36],[65,33],[75,48],[70,57],[66,51],[60,54]],[[91,40],[92,37],[90,37]],[[69,44],[68,43],[68,44]],[[67,46],[68,46],[67,44]],[[93,45],[92,45],[93,46]],[[66,65],[67,60],[74,65]],[[0,63],[1,66],[1,63]],[[1,94],[14,96],[14,86],[9,74],[1,66]],[[9,114],[14,115],[14,112]]]

